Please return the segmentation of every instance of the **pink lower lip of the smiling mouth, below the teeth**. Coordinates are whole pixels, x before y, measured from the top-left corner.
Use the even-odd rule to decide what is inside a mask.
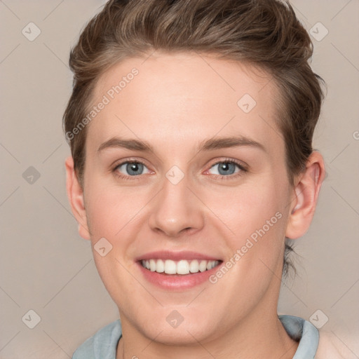
[[[208,278],[218,271],[221,264],[222,262],[219,262],[217,266],[204,272],[190,274],[163,274],[145,269],[140,262],[137,262],[144,278],[146,278],[149,283],[165,290],[187,290],[196,287],[196,285],[201,285],[202,283],[205,283],[206,280],[209,281]]]

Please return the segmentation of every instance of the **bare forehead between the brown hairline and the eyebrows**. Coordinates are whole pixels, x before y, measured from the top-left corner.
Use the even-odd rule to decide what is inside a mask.
[[[126,134],[170,145],[238,133],[270,145],[279,133],[276,93],[269,74],[241,62],[196,53],[128,58],[97,82],[92,104],[107,104],[88,136],[99,144]]]

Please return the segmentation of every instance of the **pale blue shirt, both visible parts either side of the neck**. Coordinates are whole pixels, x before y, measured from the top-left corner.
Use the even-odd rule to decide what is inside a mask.
[[[317,328],[295,316],[278,316],[288,335],[299,341],[299,346],[293,359],[314,359],[319,342]],[[93,337],[87,339],[76,349],[72,359],[116,359],[116,348],[122,336],[120,320],[102,327]]]

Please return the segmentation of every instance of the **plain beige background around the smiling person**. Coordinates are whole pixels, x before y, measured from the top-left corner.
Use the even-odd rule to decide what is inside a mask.
[[[118,316],[69,208],[69,148],[62,134],[72,84],[69,48],[102,4],[0,1],[0,358],[70,358]],[[359,1],[292,4],[306,29],[324,34],[316,25],[321,22],[329,31],[321,41],[313,39],[312,62],[327,81],[314,141],[327,178],[313,225],[297,243],[299,276],[283,285],[278,310],[309,320],[320,309],[319,320],[329,318],[323,330],[358,358]],[[29,22],[41,30],[34,41],[22,34]],[[40,175],[33,183],[27,182],[30,166]],[[34,329],[27,326],[36,319],[29,310],[41,318]]]

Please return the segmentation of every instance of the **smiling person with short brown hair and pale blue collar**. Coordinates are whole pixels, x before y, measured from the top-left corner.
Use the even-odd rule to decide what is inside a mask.
[[[277,314],[325,175],[311,46],[276,0],[112,0],[83,29],[67,193],[119,320],[73,358],[327,358]]]

